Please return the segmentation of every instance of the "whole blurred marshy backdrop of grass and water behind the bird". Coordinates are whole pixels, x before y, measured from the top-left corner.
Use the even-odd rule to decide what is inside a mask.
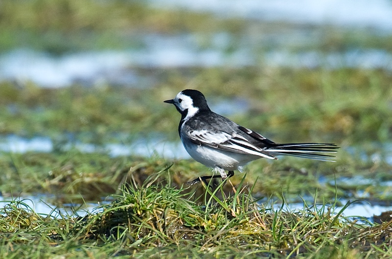
[[[342,147],[251,163],[259,196],[338,193],[371,216],[392,201],[391,72],[391,0],[2,0],[0,190],[63,204],[116,192],[129,167],[204,174],[162,103],[193,88],[275,142]]]

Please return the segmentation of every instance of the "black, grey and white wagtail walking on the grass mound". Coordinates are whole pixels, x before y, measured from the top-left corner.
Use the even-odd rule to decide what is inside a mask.
[[[178,133],[189,155],[220,173],[196,178],[187,182],[190,185],[211,178],[225,180],[234,175],[234,170],[242,171],[247,163],[261,157],[277,159],[275,155],[293,155],[333,161],[335,156],[329,154],[339,149],[327,143],[277,144],[211,111],[204,95],[197,90],[183,90],[164,102],[174,104],[181,113]]]

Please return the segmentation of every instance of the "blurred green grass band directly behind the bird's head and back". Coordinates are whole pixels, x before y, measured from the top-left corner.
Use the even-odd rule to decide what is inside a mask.
[[[249,111],[230,118],[276,142],[385,142],[391,139],[391,82],[385,71],[262,68],[163,71],[159,83],[147,89],[45,89],[3,82],[0,134],[45,132],[56,141],[72,133],[87,142],[129,143],[139,132],[163,132],[174,139],[179,115],[163,101],[193,87],[210,104],[244,98]]]

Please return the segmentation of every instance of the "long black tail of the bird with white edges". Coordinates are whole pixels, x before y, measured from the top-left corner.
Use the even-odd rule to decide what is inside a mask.
[[[321,161],[335,161],[336,153],[339,149],[335,144],[328,143],[287,143],[276,144],[266,151],[274,155],[292,155]]]

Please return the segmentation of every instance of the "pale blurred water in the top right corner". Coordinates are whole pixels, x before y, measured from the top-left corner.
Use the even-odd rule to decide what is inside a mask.
[[[221,17],[297,24],[392,30],[389,0],[149,0],[153,6],[209,12]]]

